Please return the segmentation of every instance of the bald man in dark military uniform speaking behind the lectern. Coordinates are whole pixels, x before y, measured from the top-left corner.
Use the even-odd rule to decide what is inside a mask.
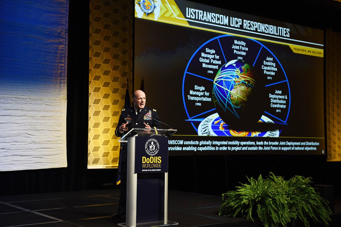
[[[146,94],[137,90],[133,93],[133,106],[123,109],[115,130],[115,135],[123,136],[132,128],[161,128],[158,112],[146,107]],[[112,218],[125,218],[127,202],[127,143],[122,145],[121,154],[121,196],[118,212]]]

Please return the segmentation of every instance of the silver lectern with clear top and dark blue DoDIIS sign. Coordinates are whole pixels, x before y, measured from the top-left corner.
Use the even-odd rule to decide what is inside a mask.
[[[168,137],[177,130],[133,128],[128,142],[127,211],[120,226],[177,225],[168,221]]]

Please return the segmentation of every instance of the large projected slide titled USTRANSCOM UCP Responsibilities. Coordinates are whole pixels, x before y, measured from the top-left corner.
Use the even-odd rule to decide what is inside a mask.
[[[178,130],[169,155],[325,154],[323,49],[319,29],[135,2],[134,89]]]

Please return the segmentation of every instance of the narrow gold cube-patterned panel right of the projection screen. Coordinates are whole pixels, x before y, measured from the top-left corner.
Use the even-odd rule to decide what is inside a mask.
[[[341,33],[326,30],[327,161],[341,161]]]

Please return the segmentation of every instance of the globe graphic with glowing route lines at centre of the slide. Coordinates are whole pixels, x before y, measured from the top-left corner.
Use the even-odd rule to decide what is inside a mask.
[[[252,66],[243,60],[231,60],[218,70],[213,80],[213,102],[230,128],[244,130],[261,119],[264,109],[258,82]]]

